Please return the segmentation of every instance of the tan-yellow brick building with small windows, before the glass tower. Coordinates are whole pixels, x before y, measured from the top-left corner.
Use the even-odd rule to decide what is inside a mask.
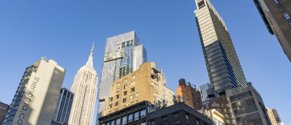
[[[143,63],[140,69],[112,83],[104,115],[141,101],[149,101],[156,107],[174,104],[174,91],[166,87],[165,75],[156,68],[156,63]]]

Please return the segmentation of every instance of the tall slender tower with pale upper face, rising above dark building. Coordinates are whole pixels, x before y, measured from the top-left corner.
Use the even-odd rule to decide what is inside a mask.
[[[208,0],[196,0],[197,28],[212,88],[217,93],[241,86],[247,81],[226,25]]]

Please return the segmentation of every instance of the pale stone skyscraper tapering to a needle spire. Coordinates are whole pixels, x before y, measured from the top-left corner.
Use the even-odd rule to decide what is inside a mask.
[[[97,96],[97,73],[93,67],[93,48],[86,65],[81,67],[74,79],[71,91],[74,92],[74,101],[69,124],[92,124],[94,106]]]

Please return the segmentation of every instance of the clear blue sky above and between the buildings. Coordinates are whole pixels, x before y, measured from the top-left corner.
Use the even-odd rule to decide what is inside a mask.
[[[226,23],[247,81],[284,124],[291,124],[291,63],[267,31],[253,1],[211,1]],[[10,104],[25,68],[42,56],[67,69],[71,88],[77,70],[94,48],[100,78],[106,38],[136,31],[176,90],[179,78],[208,83],[197,32],[194,0],[0,0],[0,100]],[[97,106],[93,123],[96,120]],[[288,119],[289,118],[289,119]]]

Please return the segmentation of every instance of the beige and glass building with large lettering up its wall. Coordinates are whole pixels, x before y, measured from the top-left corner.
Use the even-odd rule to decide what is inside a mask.
[[[65,72],[46,58],[27,67],[3,124],[51,124]]]

